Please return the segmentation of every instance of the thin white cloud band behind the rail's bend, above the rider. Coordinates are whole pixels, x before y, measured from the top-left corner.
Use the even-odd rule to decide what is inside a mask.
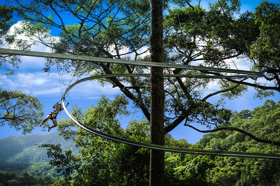
[[[65,84],[70,83],[71,76],[63,76]],[[17,73],[13,76],[0,76],[0,87],[5,90],[20,90],[26,94],[32,93],[34,96],[60,96],[64,93],[65,86],[61,84],[58,74],[50,73],[47,75],[44,72],[35,73]],[[71,83],[74,83],[73,80]],[[114,95],[120,92],[117,88],[112,88],[110,85],[101,87],[97,81],[82,82],[70,91],[71,97],[82,99],[96,99],[101,94]]]

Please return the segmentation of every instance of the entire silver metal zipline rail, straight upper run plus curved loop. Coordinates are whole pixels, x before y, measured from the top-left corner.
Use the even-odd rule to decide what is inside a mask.
[[[47,52],[36,52],[36,51],[22,51],[14,49],[3,49],[0,48],[0,53],[10,54],[10,55],[21,55],[21,56],[34,56],[34,57],[44,57],[44,58],[56,58],[56,59],[66,59],[66,60],[78,60],[78,61],[89,61],[89,62],[106,62],[106,63],[116,63],[116,64],[125,64],[125,65],[139,65],[139,66],[148,66],[148,67],[163,67],[163,68],[174,68],[174,69],[190,69],[190,70],[199,70],[199,71],[216,71],[216,72],[226,72],[226,73],[236,73],[236,74],[246,74],[246,75],[235,75],[235,76],[199,76],[199,75],[181,75],[181,74],[165,74],[167,77],[190,77],[190,78],[256,78],[264,77],[264,73],[255,72],[255,71],[246,71],[246,70],[235,70],[235,69],[223,69],[215,67],[202,67],[202,66],[191,66],[191,65],[177,65],[169,63],[158,63],[158,62],[146,62],[146,61],[130,61],[130,60],[121,60],[121,59],[110,59],[110,58],[97,58],[91,56],[77,56],[77,55],[68,55],[68,54],[58,54],[58,53],[47,53]],[[83,81],[96,79],[96,78],[108,78],[108,77],[119,77],[119,76],[150,76],[150,74],[107,74],[101,76],[92,76],[88,78],[81,79],[72,85],[70,85],[64,93],[64,96],[67,92]],[[114,140],[117,142],[139,146],[148,149],[156,149],[162,151],[178,152],[178,153],[190,153],[190,154],[205,154],[205,155],[220,155],[220,156],[235,156],[235,157],[247,157],[247,158],[267,158],[267,159],[280,159],[280,155],[275,154],[263,154],[263,153],[247,153],[247,152],[232,152],[232,151],[215,151],[215,150],[203,150],[203,149],[185,149],[185,148],[176,148],[169,146],[161,146],[154,144],[147,144],[142,142],[131,141],[123,139],[120,137],[108,135],[102,133],[98,130],[90,128],[82,123],[80,123],[74,116],[72,116],[64,105],[62,104],[67,115],[81,128],[104,138]]]

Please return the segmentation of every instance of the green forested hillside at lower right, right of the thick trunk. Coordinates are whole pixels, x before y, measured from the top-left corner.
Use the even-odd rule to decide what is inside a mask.
[[[266,101],[264,107],[243,110],[231,121],[231,126],[242,128],[257,137],[279,141],[280,102]],[[271,137],[271,138],[270,138]],[[256,142],[237,131],[220,130],[209,133],[192,148],[227,151],[280,153],[278,146]],[[275,151],[274,151],[275,149]],[[280,184],[280,161],[256,158],[236,158],[165,153],[166,166],[183,182],[201,185],[260,186]],[[188,185],[188,184],[186,184]]]

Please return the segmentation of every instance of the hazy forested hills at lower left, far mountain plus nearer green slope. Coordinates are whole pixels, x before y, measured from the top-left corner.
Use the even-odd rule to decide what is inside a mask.
[[[63,149],[77,148],[72,140],[65,141],[57,132],[47,135],[33,134],[9,136],[0,140],[0,170],[15,171],[18,174],[26,171],[36,176],[61,176],[56,168],[50,166],[46,149],[38,147],[40,144],[61,144]]]

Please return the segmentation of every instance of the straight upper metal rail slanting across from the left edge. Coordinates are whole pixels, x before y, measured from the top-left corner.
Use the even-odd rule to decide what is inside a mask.
[[[147,62],[147,61],[131,61],[131,60],[111,59],[111,58],[97,58],[91,56],[78,56],[78,55],[69,55],[69,54],[60,54],[60,53],[24,51],[24,50],[14,50],[14,49],[0,48],[0,53],[10,54],[10,55],[20,55],[20,56],[34,56],[34,57],[90,61],[90,62],[106,62],[106,63],[116,63],[116,64],[125,64],[125,65],[139,65],[139,66],[146,66],[146,67],[163,67],[163,68],[174,68],[174,69],[227,72],[227,73],[236,73],[236,74],[247,74],[247,75],[252,75],[254,77],[265,76],[264,73],[262,72],[247,71],[247,70],[224,69],[224,68],[216,68],[216,67],[201,67],[201,66],[192,66],[192,65],[178,65],[178,64]]]

